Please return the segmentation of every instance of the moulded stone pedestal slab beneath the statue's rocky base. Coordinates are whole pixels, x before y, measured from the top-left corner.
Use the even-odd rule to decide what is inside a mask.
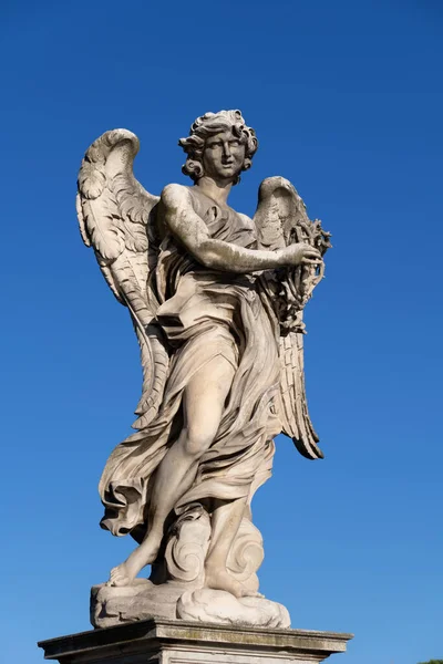
[[[351,634],[150,619],[42,641],[61,664],[310,664],[343,653]]]

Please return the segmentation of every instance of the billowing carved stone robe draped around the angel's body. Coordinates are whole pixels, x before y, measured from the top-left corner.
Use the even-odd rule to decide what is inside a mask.
[[[213,238],[256,243],[250,222],[193,193]],[[279,433],[274,401],[279,387],[278,328],[251,276],[209,271],[166,238],[153,274],[162,302],[157,320],[172,360],[162,406],[146,428],[117,445],[104,468],[102,527],[114,535],[146,529],[150,491],[158,464],[183,428],[182,398],[189,378],[217,355],[235,369],[217,436],[196,479],[175,506],[208,498],[250,500],[269,477],[272,437]]]

